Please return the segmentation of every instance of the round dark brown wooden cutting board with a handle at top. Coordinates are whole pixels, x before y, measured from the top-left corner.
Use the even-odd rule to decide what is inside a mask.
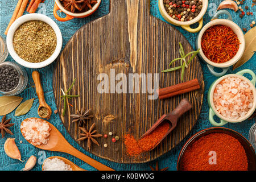
[[[92,154],[118,163],[148,162],[174,148],[195,125],[203,102],[203,71],[196,57],[185,70],[184,81],[197,78],[201,89],[166,100],[148,100],[152,94],[148,93],[148,89],[146,93],[142,92],[142,82],[135,84],[135,88],[140,88],[139,93],[117,93],[111,90],[110,83],[109,92],[114,91],[113,93],[99,93],[97,88],[102,80],[97,78],[101,73],[105,74],[101,75],[104,78],[108,76],[109,82],[115,79],[113,72],[114,76],[123,73],[127,76],[127,84],[129,73],[145,73],[146,76],[152,73],[152,79],[154,73],[158,73],[159,87],[179,84],[180,70],[170,73],[161,71],[169,68],[168,64],[172,59],[180,57],[179,42],[185,52],[193,51],[179,31],[150,15],[150,1],[115,0],[110,4],[110,13],[80,28],[59,56],[53,73],[56,105],[61,113],[64,105],[60,100],[61,88],[66,91],[77,78],[70,94],[79,94],[80,97],[69,100],[72,106],[68,106],[64,117],[60,114],[71,136],[78,139],[80,132],[79,123],[72,122],[69,115],[82,107],[92,109],[94,118],[88,120],[85,127],[95,122],[98,133],[108,134],[114,131],[115,135],[120,137],[115,143],[111,141],[110,136],[97,138],[100,146],[92,143]],[[175,63],[174,66],[179,64]],[[118,82],[120,81],[115,81],[115,85]],[[133,134],[138,139],[163,114],[170,113],[183,98],[188,98],[193,108],[179,119],[171,134],[154,150],[138,158],[127,156],[123,135]],[[105,148],[104,143],[107,143],[108,147]],[[86,141],[79,144],[88,150]]]

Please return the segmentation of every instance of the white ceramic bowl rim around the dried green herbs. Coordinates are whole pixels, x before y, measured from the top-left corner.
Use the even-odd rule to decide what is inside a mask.
[[[53,52],[51,57],[49,57],[47,60],[42,61],[40,63],[30,63],[28,61],[21,59],[18,56],[18,54],[14,51],[14,48],[13,48],[13,36],[14,36],[15,31],[24,22],[28,22],[30,20],[40,20],[42,22],[46,22],[55,31],[56,38],[57,38],[57,45],[56,45],[55,51]],[[23,65],[23,67],[27,67],[27,68],[43,68],[43,67],[46,67],[47,65],[51,64],[57,58],[57,56],[59,56],[59,53],[60,53],[61,47],[62,47],[62,41],[63,40],[62,40],[60,28],[57,26],[57,24],[48,16],[43,15],[43,14],[36,14],[36,13],[23,15],[23,16],[20,16],[20,18],[16,19],[15,22],[11,25],[11,27],[8,31],[7,37],[6,37],[7,49],[9,51],[11,57],[13,57],[13,59],[17,63],[19,63],[20,65]]]

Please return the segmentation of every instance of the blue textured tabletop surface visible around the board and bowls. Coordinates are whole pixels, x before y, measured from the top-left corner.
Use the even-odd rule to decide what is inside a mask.
[[[6,38],[4,32],[7,27],[7,24],[9,23],[9,20],[11,19],[11,16],[13,15],[16,2],[18,2],[18,0],[13,0],[13,1],[0,0],[0,16],[1,16],[0,35],[3,36],[3,38]],[[213,13],[216,11],[216,8],[220,2],[221,2],[220,0],[209,1],[207,13],[204,15],[204,24],[208,23],[210,18],[212,18]],[[250,15],[250,16],[245,15],[242,19],[239,17],[240,12],[235,13],[233,10],[228,10],[232,14],[234,22],[236,22],[241,28],[247,28],[247,30],[250,29],[250,22],[252,20],[256,20],[256,16],[255,16],[256,6],[251,7],[251,3],[252,3],[251,0],[246,0],[243,3],[242,8],[243,10],[245,10],[244,7],[249,6],[248,11],[252,11],[254,15]],[[87,18],[73,19],[68,22],[59,22],[53,16],[53,4],[54,4],[53,0],[45,0],[44,5],[40,6],[38,11],[39,13],[46,14],[58,24],[58,26],[60,27],[61,33],[63,35],[63,40],[64,40],[63,47],[71,38],[71,36],[77,30],[79,30],[79,28],[82,27],[85,23],[88,23],[93,19],[97,19],[98,17],[104,16],[109,13],[109,0],[102,0],[100,7],[96,11],[96,13],[94,13],[93,15]],[[46,11],[44,11],[43,7],[46,7]],[[151,14],[163,20],[158,10],[158,1],[156,0],[151,1]],[[170,24],[170,26],[172,25]],[[176,27],[176,28],[184,34],[184,36],[188,39],[189,43],[191,43],[191,45],[195,48],[194,43],[195,43],[197,34],[192,34],[187,31],[184,31],[180,27]],[[230,69],[228,73],[236,73],[245,68],[252,69],[256,73],[255,60],[256,60],[256,55],[254,55],[250,61],[247,61],[246,64],[242,65],[242,67],[236,69],[234,72],[232,72],[232,70]],[[13,59],[10,56],[8,56],[6,61],[13,61]],[[53,92],[52,92],[52,72],[53,72],[54,65],[55,63],[49,65],[46,68],[38,69],[42,77],[42,85],[43,85],[43,89],[46,97],[46,102],[51,106],[52,110],[56,109],[55,99],[53,97]],[[198,119],[193,130],[179,145],[177,145],[170,152],[167,152],[167,154],[161,156],[160,158],[152,162],[143,163],[143,164],[119,164],[119,163],[113,163],[113,162],[109,162],[108,160],[98,158],[94,155],[91,155],[89,152],[86,152],[85,150],[83,150],[79,146],[79,144],[77,144],[75,140],[73,140],[70,137],[68,132],[65,130],[63,124],[61,123],[59,115],[52,114],[51,119],[49,119],[49,122],[51,122],[55,127],[57,127],[57,129],[64,135],[64,137],[68,140],[68,142],[72,144],[72,146],[76,147],[81,152],[84,152],[86,155],[89,155],[90,157],[100,161],[101,163],[104,163],[107,166],[112,167],[115,170],[150,170],[149,165],[155,166],[156,161],[159,162],[160,168],[169,167],[168,170],[176,170],[177,157],[185,141],[187,141],[188,138],[191,137],[193,134],[195,134],[197,131],[206,129],[208,127],[212,127],[208,119],[207,92],[208,92],[209,86],[212,84],[214,80],[216,80],[216,77],[210,75],[205,63],[201,62],[201,65],[204,71],[205,93],[204,93],[204,103],[201,110],[200,118]],[[46,157],[53,156],[53,155],[63,156],[64,158],[71,160],[72,162],[76,163],[78,166],[84,169],[95,170],[93,167],[90,167],[88,164],[82,162],[80,159],[77,159],[71,155],[63,154],[61,152],[42,151],[38,148],[35,148],[22,137],[22,134],[20,133],[20,130],[19,130],[20,123],[25,118],[36,117],[38,115],[37,108],[39,105],[35,88],[32,87],[34,83],[31,78],[31,73],[32,71],[34,71],[34,69],[26,68],[26,71],[29,76],[28,85],[27,85],[27,88],[24,90],[24,92],[19,94],[19,96],[23,97],[23,101],[30,98],[36,98],[36,99],[34,101],[34,104],[31,110],[26,115],[23,115],[20,117],[14,117],[14,111],[13,113],[10,113],[7,115],[7,118],[12,118],[11,122],[15,122],[15,125],[11,127],[11,130],[13,131],[14,135],[7,134],[5,138],[0,139],[0,170],[20,170],[24,167],[24,163],[19,162],[19,160],[11,159],[5,154],[5,151],[3,150],[3,144],[5,143],[5,140],[8,137],[16,138],[16,144],[19,147],[19,150],[22,154],[22,160],[27,160],[31,155],[35,155],[38,158],[38,162],[36,163],[36,166],[33,168],[33,170],[42,169],[42,160],[44,159],[44,154],[46,155]],[[248,138],[249,129],[253,125],[253,123],[255,123],[255,118],[241,122],[241,123],[227,124],[224,127],[228,127],[230,129],[236,130],[239,133],[241,133],[243,136]],[[19,143],[20,140],[22,140],[22,143]]]

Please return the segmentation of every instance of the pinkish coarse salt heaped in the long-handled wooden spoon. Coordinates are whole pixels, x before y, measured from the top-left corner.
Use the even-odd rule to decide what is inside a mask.
[[[46,121],[42,121],[41,119],[28,118],[22,122],[20,129],[24,138],[34,146],[47,144],[49,140],[49,131],[51,128]]]

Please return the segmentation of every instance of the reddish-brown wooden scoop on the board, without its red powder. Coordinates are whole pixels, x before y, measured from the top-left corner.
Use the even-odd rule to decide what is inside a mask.
[[[191,102],[189,102],[187,100],[187,98],[183,98],[183,100],[181,100],[180,104],[170,114],[162,115],[162,117],[160,119],[158,119],[158,121],[156,121],[155,124],[153,126],[151,126],[150,129],[148,129],[147,132],[144,133],[141,138],[152,133],[152,131],[154,131],[156,129],[156,127],[158,127],[161,123],[168,122],[170,124],[170,129],[167,131],[167,133],[164,135],[164,137],[162,139],[160,139],[158,141],[158,143],[156,143],[154,145],[154,147],[151,148],[151,150],[154,149],[156,146],[158,146],[158,144],[160,142],[162,142],[162,140],[164,138],[166,138],[166,136],[168,134],[170,134],[170,132],[172,130],[175,129],[175,127],[177,126],[177,120],[181,117],[181,115],[183,115],[185,112],[187,112],[191,108],[192,108]]]

